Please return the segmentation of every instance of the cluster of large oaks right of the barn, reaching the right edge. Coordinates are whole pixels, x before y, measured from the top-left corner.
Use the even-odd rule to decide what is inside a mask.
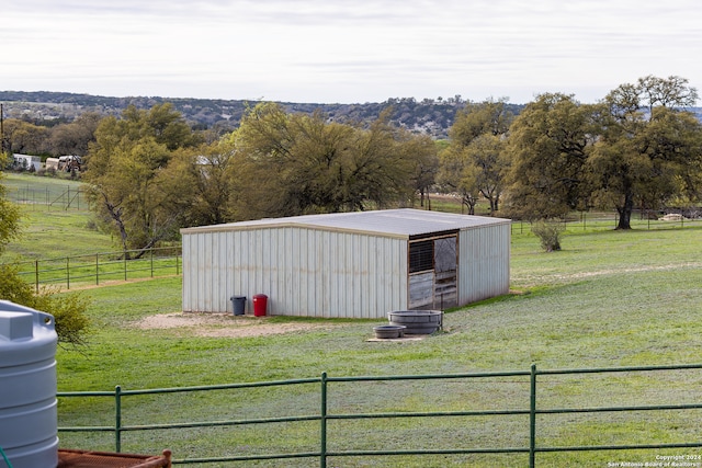
[[[514,116],[503,101],[469,103],[456,115],[441,153],[439,182],[472,209],[529,220],[615,209],[631,229],[635,207],[699,203],[702,127],[688,111],[697,89],[680,77],[639,78],[597,104],[544,93]]]

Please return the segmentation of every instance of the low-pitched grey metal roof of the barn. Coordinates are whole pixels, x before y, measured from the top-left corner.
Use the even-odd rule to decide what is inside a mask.
[[[253,221],[229,222],[226,225],[185,228],[182,229],[181,232],[195,233],[203,231],[262,229],[288,226],[412,237],[508,222],[511,221],[502,218],[401,208],[259,219]]]

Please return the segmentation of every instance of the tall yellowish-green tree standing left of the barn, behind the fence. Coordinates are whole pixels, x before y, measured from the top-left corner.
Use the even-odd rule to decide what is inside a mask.
[[[122,119],[101,121],[83,176],[91,206],[117,235],[126,258],[178,237],[191,203],[192,172],[182,158],[171,161],[177,150],[199,142],[170,104],[148,112],[131,106]]]

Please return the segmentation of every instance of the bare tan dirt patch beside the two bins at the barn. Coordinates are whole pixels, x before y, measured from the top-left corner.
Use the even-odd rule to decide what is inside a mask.
[[[138,321],[141,330],[183,329],[197,336],[246,338],[329,329],[328,323],[271,322],[268,317],[233,316],[230,313],[176,312],[149,316]]]

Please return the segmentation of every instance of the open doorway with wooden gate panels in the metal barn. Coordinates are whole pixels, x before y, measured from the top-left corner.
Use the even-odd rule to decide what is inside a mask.
[[[409,308],[444,309],[457,304],[457,236],[409,243]]]

